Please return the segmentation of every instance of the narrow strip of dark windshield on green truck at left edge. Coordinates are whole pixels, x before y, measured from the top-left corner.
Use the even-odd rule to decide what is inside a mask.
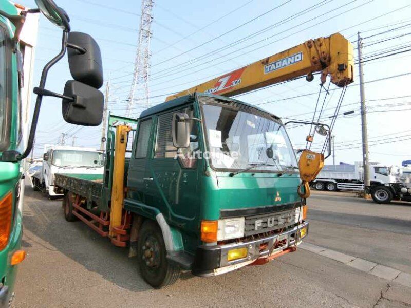
[[[3,27],[0,27],[0,148],[2,148],[5,138],[6,130],[6,35]],[[0,149],[3,150],[3,149]]]

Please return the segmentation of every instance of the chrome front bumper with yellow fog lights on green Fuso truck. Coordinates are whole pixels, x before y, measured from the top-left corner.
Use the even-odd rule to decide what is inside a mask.
[[[300,230],[304,228],[306,228],[306,233],[301,238]],[[288,248],[300,244],[301,240],[306,237],[307,234],[308,222],[303,221],[303,223],[281,234],[273,234],[265,238],[227,245],[199,246],[196,250],[192,273],[195,276],[201,277],[216,276],[252,264],[258,259],[271,259],[275,257],[275,255],[279,255],[282,251],[289,251],[287,250]],[[275,248],[271,255],[268,256],[276,240],[277,245],[281,243],[281,246]],[[229,250],[244,247],[248,248],[246,258],[234,261],[227,260]]]

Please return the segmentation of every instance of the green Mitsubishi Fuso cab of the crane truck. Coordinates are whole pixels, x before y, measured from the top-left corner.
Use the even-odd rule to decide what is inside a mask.
[[[177,148],[181,115],[189,140]],[[278,117],[195,94],[143,111],[135,138],[124,209],[157,222],[165,251],[154,256],[214,276],[295,249],[307,235],[297,160]],[[144,228],[153,226],[139,231],[140,269],[156,285],[162,259],[150,250],[161,242]]]

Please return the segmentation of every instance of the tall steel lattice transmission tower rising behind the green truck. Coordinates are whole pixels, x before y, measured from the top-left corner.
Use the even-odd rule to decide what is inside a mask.
[[[137,52],[134,62],[133,82],[128,94],[126,116],[130,116],[133,109],[134,93],[137,91],[139,101],[148,106],[148,67],[150,66],[150,39],[153,0],[141,1],[141,19],[138,31]]]

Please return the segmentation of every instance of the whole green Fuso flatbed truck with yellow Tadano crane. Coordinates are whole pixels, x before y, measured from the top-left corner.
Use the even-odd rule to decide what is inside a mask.
[[[305,74],[310,81],[315,71],[345,89],[352,59],[336,33],[172,95],[138,119],[110,115],[101,179],[55,175],[65,219],[128,246],[156,288],[181,270],[209,277],[295,251],[308,234],[308,181],[324,154],[303,151],[297,165],[286,123],[230,96]],[[314,125],[330,140],[328,126]]]

